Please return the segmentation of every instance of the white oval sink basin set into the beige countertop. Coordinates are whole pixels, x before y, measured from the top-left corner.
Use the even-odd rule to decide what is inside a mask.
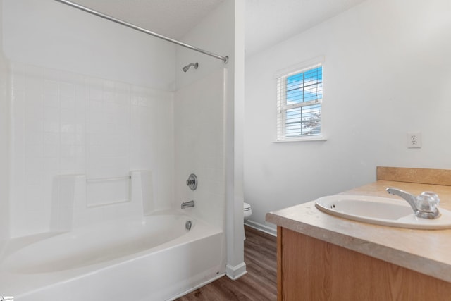
[[[412,229],[451,228],[451,211],[440,210],[437,219],[416,217],[404,199],[373,197],[369,195],[330,195],[316,199],[316,208],[345,219]]]

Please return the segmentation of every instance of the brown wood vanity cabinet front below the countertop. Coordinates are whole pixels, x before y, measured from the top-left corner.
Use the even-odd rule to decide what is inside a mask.
[[[278,301],[451,300],[449,282],[288,228],[277,244]]]

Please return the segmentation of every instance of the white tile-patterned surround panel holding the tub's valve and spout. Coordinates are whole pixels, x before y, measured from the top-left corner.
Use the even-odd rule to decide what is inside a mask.
[[[224,70],[221,68],[175,93],[175,206],[217,228],[224,228],[226,169],[224,160]],[[190,173],[197,189],[185,185]]]

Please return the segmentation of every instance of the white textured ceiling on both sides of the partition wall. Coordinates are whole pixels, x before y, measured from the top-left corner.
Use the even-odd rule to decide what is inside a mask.
[[[173,39],[183,37],[223,1],[230,0],[73,0]],[[246,1],[245,47],[249,56],[364,0],[235,1]]]

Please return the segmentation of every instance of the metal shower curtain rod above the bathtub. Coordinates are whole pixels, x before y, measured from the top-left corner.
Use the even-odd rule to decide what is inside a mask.
[[[158,33],[156,33],[156,32],[152,32],[152,31],[150,31],[150,30],[146,30],[146,29],[144,29],[144,28],[142,28],[142,27],[139,27],[139,26],[133,25],[133,24],[131,24],[131,23],[125,22],[125,21],[123,21],[123,20],[119,20],[119,19],[117,19],[117,18],[108,16],[108,15],[106,15],[106,14],[104,14],[104,13],[100,13],[99,11],[94,11],[93,9],[87,8],[87,7],[85,7],[85,6],[81,6],[80,4],[75,4],[75,3],[70,2],[70,1],[67,1],[67,0],[55,0],[55,1],[58,1],[58,2],[60,2],[60,3],[62,3],[62,4],[67,4],[68,6],[72,6],[72,7],[74,7],[74,8],[78,8],[78,9],[80,9],[81,11],[85,11],[85,12],[87,12],[87,13],[92,13],[92,14],[95,15],[95,16],[98,16],[98,17],[100,17],[100,18],[104,18],[104,19],[106,19],[106,20],[110,20],[110,21],[113,21],[113,22],[115,22],[115,23],[118,23],[118,24],[121,24],[121,25],[130,27],[130,28],[132,28],[132,29],[134,29],[134,30],[138,30],[138,31],[140,31],[140,32],[147,33],[147,35],[152,35],[152,36],[154,36],[154,37],[158,37],[158,38],[160,38],[160,39],[164,39],[164,40],[166,40],[166,41],[168,41],[168,42],[171,42],[171,43],[173,43],[173,44],[178,44],[179,46],[186,47],[186,48],[188,48],[188,49],[192,49],[192,50],[194,50],[194,51],[201,52],[202,54],[206,54],[206,55],[208,55],[208,56],[213,56],[213,57],[216,58],[216,59],[220,59],[220,60],[223,61],[224,63],[228,63],[228,56],[220,56],[220,55],[218,55],[218,54],[214,54],[213,52],[206,51],[206,50],[204,50],[204,49],[200,49],[200,48],[194,47],[194,46],[192,46],[192,45],[190,45],[190,44],[185,44],[185,43],[180,42],[180,41],[178,41],[178,40],[176,40],[176,39],[171,39],[170,37],[166,37],[166,36],[164,36],[164,35],[160,35],[160,34],[158,34]]]

